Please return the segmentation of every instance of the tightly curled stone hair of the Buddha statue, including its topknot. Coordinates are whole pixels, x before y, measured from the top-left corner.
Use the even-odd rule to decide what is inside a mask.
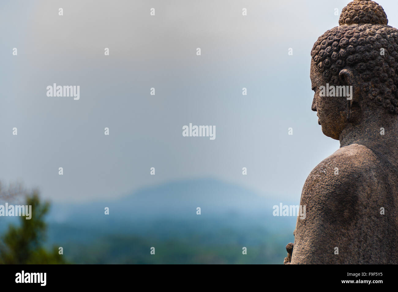
[[[351,69],[362,83],[365,103],[398,114],[398,30],[387,23],[376,2],[350,2],[340,26],[318,37],[311,57],[327,83],[343,85],[339,72]]]

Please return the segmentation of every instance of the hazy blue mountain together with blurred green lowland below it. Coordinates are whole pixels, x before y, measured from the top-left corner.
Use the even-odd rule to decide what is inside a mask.
[[[297,218],[274,217],[278,204],[219,180],[169,182],[115,200],[52,204],[47,246],[62,246],[72,263],[282,264]]]

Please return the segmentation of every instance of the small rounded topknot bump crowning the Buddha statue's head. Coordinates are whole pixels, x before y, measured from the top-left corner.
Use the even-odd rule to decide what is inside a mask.
[[[352,1],[343,8],[339,25],[388,24],[384,9],[374,1]]]

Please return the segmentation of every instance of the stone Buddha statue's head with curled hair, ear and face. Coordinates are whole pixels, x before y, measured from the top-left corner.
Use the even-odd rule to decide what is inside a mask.
[[[398,117],[398,30],[387,24],[376,2],[352,1],[339,26],[314,43],[312,110],[326,136],[338,140],[347,125],[372,115]],[[325,94],[324,88],[333,91]]]

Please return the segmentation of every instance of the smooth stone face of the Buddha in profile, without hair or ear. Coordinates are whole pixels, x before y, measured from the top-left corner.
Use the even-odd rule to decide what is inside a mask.
[[[311,110],[317,112],[318,124],[322,127],[322,132],[333,139],[339,140],[341,131],[347,125],[347,98],[335,96],[320,96],[321,86],[326,87],[326,81],[322,73],[316,68],[316,64],[311,60],[310,78],[314,99],[312,100]],[[328,84],[338,86],[339,84]]]

